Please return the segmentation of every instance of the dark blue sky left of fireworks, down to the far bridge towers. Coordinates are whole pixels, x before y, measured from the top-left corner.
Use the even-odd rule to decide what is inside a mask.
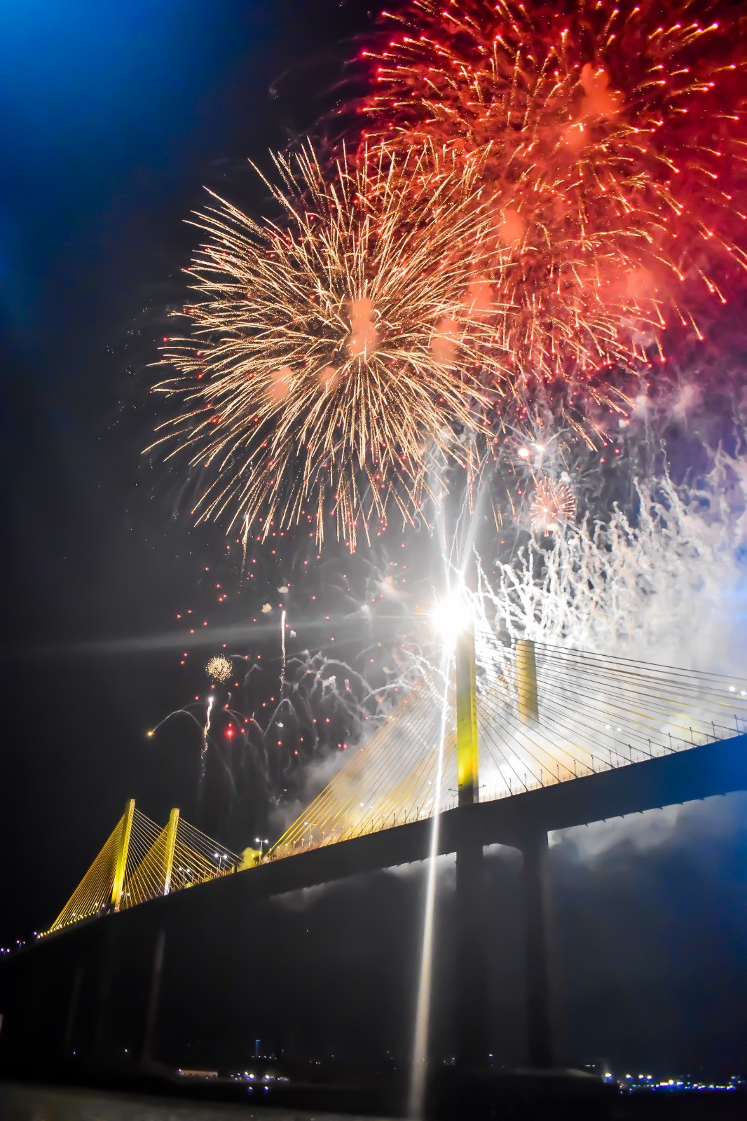
[[[74,862],[128,790],[158,786],[142,731],[183,700],[175,659],[102,663],[70,643],[163,631],[195,578],[168,481],[155,487],[140,456],[148,363],[194,244],[185,219],[204,185],[261,198],[247,160],[334,106],[367,26],[363,4],[335,0],[0,11],[3,836],[85,807],[66,834]],[[47,842],[29,844],[43,859]],[[0,944],[44,921],[71,872],[57,874],[39,904],[11,870]]]

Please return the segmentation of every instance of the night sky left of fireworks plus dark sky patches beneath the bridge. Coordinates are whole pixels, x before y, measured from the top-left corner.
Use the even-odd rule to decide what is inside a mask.
[[[203,815],[197,824],[242,846],[236,821],[221,833],[197,791],[194,739],[158,750],[145,736],[204,688],[196,671],[185,680],[174,619],[224,548],[220,534],[190,530],[174,476],[140,456],[154,417],[147,363],[183,298],[194,244],[184,219],[203,185],[261,202],[246,160],[330,117],[352,87],[344,59],[372,25],[358,0],[28,0],[0,15],[0,945],[52,921],[128,797],[159,821],[173,805]],[[571,1058],[593,1057],[599,1038],[620,1062],[672,1073],[702,1058],[747,1073],[734,997],[746,810],[732,796],[688,807],[676,825],[647,816],[555,849]],[[310,914],[325,911],[314,955],[330,966],[360,953],[362,976],[377,947],[395,952],[398,921],[412,941],[409,882],[381,877],[314,904]],[[489,910],[507,924],[496,937],[505,969],[514,919],[495,900]],[[361,980],[361,1002],[378,971],[368,990]],[[380,1015],[379,1041],[406,1037],[402,1023],[387,1035]],[[508,1044],[506,1057],[520,1058]]]

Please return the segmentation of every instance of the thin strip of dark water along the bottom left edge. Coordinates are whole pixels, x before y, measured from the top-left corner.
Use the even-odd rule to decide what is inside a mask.
[[[0,1121],[324,1121],[330,1114],[0,1083]],[[340,1118],[335,1121],[354,1121]],[[370,1121],[370,1119],[367,1119]]]

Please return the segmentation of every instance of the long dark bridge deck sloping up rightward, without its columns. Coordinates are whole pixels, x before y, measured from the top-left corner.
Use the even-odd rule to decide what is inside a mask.
[[[491,844],[524,850],[527,840],[538,833],[546,835],[554,830],[735,790],[747,790],[747,734],[510,797],[444,810],[439,828],[439,853]],[[213,881],[213,889],[220,884],[227,890],[240,890],[245,898],[268,899],[349,876],[409,864],[427,858],[431,831],[431,818],[395,825],[267,861],[248,874],[237,873]],[[178,906],[179,899],[186,902],[192,893],[175,893],[169,902]]]

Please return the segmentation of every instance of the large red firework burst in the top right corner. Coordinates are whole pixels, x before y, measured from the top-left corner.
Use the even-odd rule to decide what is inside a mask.
[[[741,16],[703,0],[414,0],[376,58],[367,143],[485,161],[499,326],[528,388],[588,395],[745,267]],[[735,9],[736,11],[736,9]],[[736,231],[736,233],[735,233]],[[738,243],[741,241],[741,248]]]

